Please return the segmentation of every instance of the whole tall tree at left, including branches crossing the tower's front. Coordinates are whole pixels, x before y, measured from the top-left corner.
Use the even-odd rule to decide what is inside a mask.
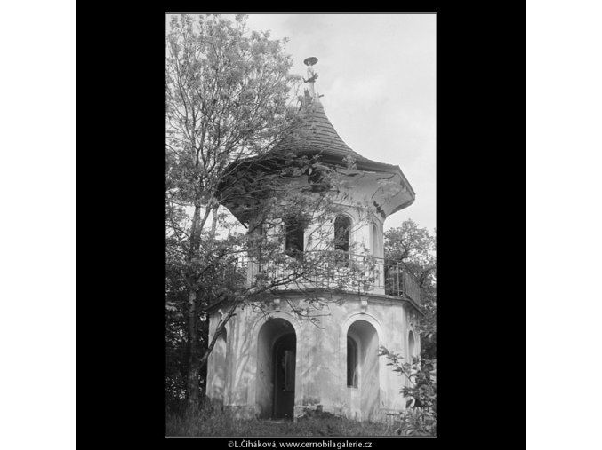
[[[269,154],[295,123],[292,92],[300,77],[289,74],[292,62],[283,51],[284,43],[270,40],[268,32],[248,30],[243,15],[234,23],[215,14],[197,21],[181,15],[169,24],[167,390],[186,397],[189,413],[199,405],[202,371],[213,345],[237,307],[261,311],[273,289],[304,288],[324,275],[325,267],[332,271],[333,282],[327,283],[332,292],[347,282],[325,264],[331,252],[309,251],[328,248],[329,224],[341,211],[333,201],[341,200],[338,169],[311,155]],[[301,229],[312,224],[306,231],[310,249],[302,257],[282,252],[287,223]],[[261,267],[252,280],[247,279],[249,264]],[[348,280],[357,280],[360,272]],[[216,305],[224,314],[208,336],[207,312]],[[313,317],[309,311],[295,312]]]

